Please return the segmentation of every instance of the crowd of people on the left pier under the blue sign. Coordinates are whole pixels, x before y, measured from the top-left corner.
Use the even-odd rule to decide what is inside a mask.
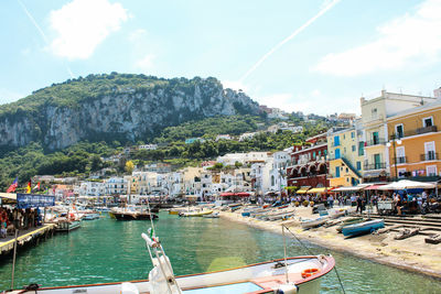
[[[0,207],[0,238],[13,235],[14,229],[29,230],[41,226],[42,219],[39,208],[9,208]]]

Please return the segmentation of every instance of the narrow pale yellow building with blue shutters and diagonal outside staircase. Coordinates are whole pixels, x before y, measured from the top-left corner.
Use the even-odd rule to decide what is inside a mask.
[[[364,143],[357,128],[332,128],[327,131],[330,186],[355,186],[362,182]]]

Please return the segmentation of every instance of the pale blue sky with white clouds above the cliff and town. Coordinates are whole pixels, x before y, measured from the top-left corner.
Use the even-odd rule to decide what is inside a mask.
[[[0,105],[68,78],[216,77],[286,111],[441,87],[441,0],[3,0]]]

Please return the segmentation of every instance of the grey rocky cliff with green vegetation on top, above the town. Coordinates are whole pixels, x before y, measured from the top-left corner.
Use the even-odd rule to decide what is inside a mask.
[[[1,106],[0,146],[39,141],[56,150],[82,140],[146,141],[189,120],[258,112],[257,102],[215,78],[90,75]]]

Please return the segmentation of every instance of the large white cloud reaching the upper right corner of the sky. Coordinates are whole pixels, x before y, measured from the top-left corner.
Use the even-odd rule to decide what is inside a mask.
[[[375,41],[324,56],[313,70],[356,76],[433,64],[441,53],[441,0],[427,0],[411,14],[377,28]]]

